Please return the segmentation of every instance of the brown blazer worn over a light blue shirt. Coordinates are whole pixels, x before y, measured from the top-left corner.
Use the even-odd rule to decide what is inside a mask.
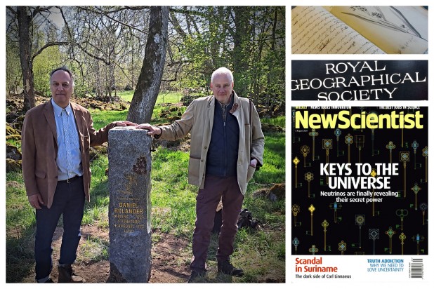
[[[108,130],[116,124],[110,123],[96,131],[87,109],[72,102],[71,108],[79,132],[84,193],[89,201],[91,184],[89,148],[107,142]],[[25,114],[21,135],[22,176],[27,196],[39,193],[45,205],[51,208],[55,187],[58,184],[58,167],[55,163],[58,144],[51,100],[30,109]]]

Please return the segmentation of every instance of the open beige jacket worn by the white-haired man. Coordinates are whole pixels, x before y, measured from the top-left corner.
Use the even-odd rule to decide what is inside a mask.
[[[264,135],[261,130],[261,120],[254,105],[250,105],[251,102],[247,98],[239,98],[233,90],[232,95],[234,105],[230,112],[237,118],[239,126],[237,179],[239,189],[242,194],[245,194],[247,182],[251,180],[256,170],[250,166],[250,160],[258,160],[256,168],[263,164]],[[177,140],[191,132],[188,182],[201,189],[205,182],[206,154],[211,141],[214,105],[213,95],[197,98],[188,106],[182,119],[169,126],[159,127],[162,130],[160,137],[164,140]]]

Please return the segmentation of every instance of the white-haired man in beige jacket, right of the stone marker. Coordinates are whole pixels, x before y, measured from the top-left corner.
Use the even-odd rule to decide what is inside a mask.
[[[254,171],[263,164],[264,136],[256,108],[232,89],[232,72],[221,67],[211,76],[213,95],[193,100],[182,116],[169,126],[143,123],[138,128],[165,140],[191,133],[188,182],[199,187],[193,234],[192,275],[189,282],[206,274],[206,257],[218,202],[223,202],[223,220],[218,239],[218,271],[242,276],[230,263],[237,234],[238,215]]]

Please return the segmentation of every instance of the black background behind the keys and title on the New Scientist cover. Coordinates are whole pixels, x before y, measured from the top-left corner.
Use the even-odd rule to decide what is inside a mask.
[[[420,208],[421,203],[428,204],[428,183],[426,182],[426,164],[428,161],[422,155],[424,147],[428,147],[428,107],[420,109],[384,109],[383,107],[351,107],[352,114],[361,113],[362,111],[376,112],[376,114],[389,114],[395,112],[414,113],[420,110],[423,114],[421,123],[423,129],[404,129],[402,147],[402,130],[393,128],[382,128],[374,130],[374,142],[372,142],[372,130],[362,129],[355,130],[347,128],[341,130],[341,135],[336,143],[336,128],[320,128],[315,137],[315,160],[312,160],[313,154],[313,137],[309,135],[312,129],[294,128],[294,113],[296,110],[308,110],[310,114],[337,114],[342,109],[320,108],[320,109],[296,109],[292,107],[291,117],[291,208],[294,205],[299,206],[299,212],[291,212],[291,253],[292,255],[313,255],[313,245],[317,249],[315,255],[401,255],[402,241],[399,236],[403,232],[406,236],[403,246],[404,255],[428,255],[428,209],[424,215]],[[348,110],[348,109],[346,109]],[[320,175],[320,163],[326,163],[326,149],[322,148],[323,139],[331,139],[333,146],[329,149],[329,163],[348,163],[348,145],[345,143],[345,136],[353,135],[353,144],[350,145],[350,163],[352,163],[353,173],[350,176],[357,177],[355,163],[359,162],[359,149],[355,145],[355,135],[364,135],[364,147],[360,150],[360,162],[370,163],[375,168],[375,163],[389,163],[390,150],[386,145],[390,141],[395,145],[392,150],[392,162],[399,163],[398,175],[390,176],[390,189],[376,189],[376,191],[400,191],[400,197],[379,196],[383,198],[382,202],[376,202],[374,216],[372,214],[372,203],[344,203],[341,202],[341,208],[336,210],[338,222],[334,222],[334,209],[330,208],[336,201],[336,196],[320,196],[321,191],[367,191],[368,189],[330,189],[326,183],[325,176]],[[416,148],[416,169],[414,169],[414,149],[412,142],[418,142]],[[374,147],[373,145],[374,144]],[[310,152],[304,158],[301,153],[301,147],[307,145]],[[339,150],[340,155],[337,156]],[[374,149],[374,150],[373,150]],[[400,152],[409,152],[410,160],[406,168],[406,197],[403,197],[403,162],[400,161]],[[297,168],[294,165],[294,158],[297,157],[299,163]],[[304,159],[307,167],[304,166]],[[429,169],[429,168],[428,168]],[[313,173],[313,180],[310,181],[310,195],[308,198],[308,182],[305,180],[305,173]],[[295,175],[297,173],[298,187],[295,187]],[[428,179],[427,179],[428,180]],[[417,210],[415,210],[415,194],[412,187],[417,183],[420,191],[417,194]],[[371,189],[369,189],[371,191]],[[375,191],[375,189],[374,189]],[[357,197],[353,197],[357,198]],[[369,198],[369,197],[368,197]],[[310,235],[311,215],[308,208],[310,205],[315,207],[313,212],[313,236]],[[397,210],[407,210],[407,215],[403,218],[403,230],[401,230],[400,216]],[[402,211],[398,211],[398,214]],[[405,213],[405,211],[404,211]],[[364,217],[364,224],[360,227],[356,223],[356,215]],[[329,223],[326,228],[326,250],[324,250],[324,227],[322,222],[327,220]],[[296,225],[294,225],[296,222]],[[395,234],[392,236],[392,250],[390,253],[390,238],[386,231],[391,227]],[[379,229],[379,238],[369,238],[369,229]],[[416,239],[419,234],[419,252]],[[295,240],[295,241],[294,241]],[[339,250],[341,242],[346,243],[346,250]],[[294,244],[295,243],[295,244]],[[296,246],[294,246],[296,245]],[[310,251],[311,250],[311,251]],[[314,250],[315,251],[315,250]]]

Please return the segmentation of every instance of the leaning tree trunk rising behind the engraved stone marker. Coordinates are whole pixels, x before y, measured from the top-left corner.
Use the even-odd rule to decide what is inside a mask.
[[[145,59],[138,76],[136,90],[131,100],[127,120],[135,123],[149,123],[162,81],[166,46],[169,7],[152,6],[149,34],[145,47]]]

